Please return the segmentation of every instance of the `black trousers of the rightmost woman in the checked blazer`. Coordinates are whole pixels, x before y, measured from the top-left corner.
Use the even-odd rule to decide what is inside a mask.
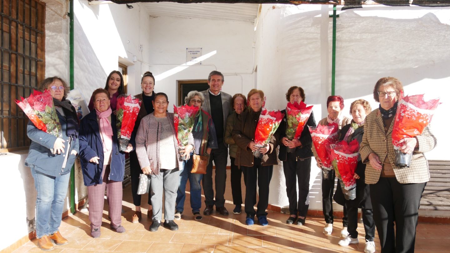
[[[382,253],[414,252],[419,205],[425,185],[401,184],[395,177],[380,177],[378,183],[370,185]]]

